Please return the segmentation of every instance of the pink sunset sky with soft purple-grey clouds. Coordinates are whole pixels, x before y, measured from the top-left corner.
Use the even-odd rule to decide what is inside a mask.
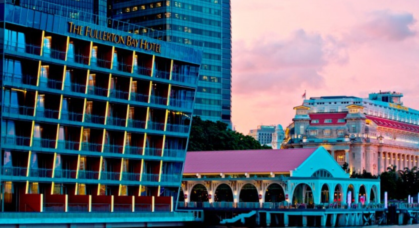
[[[419,1],[232,0],[233,124],[292,122],[310,96],[399,91],[419,109]]]

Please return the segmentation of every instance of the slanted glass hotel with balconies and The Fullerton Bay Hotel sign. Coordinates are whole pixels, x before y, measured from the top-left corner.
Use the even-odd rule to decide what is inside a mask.
[[[173,210],[202,48],[67,6],[0,3],[1,211]]]

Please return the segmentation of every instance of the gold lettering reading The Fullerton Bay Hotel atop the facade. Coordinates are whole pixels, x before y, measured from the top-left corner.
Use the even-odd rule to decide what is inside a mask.
[[[161,44],[147,42],[145,39],[134,39],[132,36],[122,36],[106,31],[92,29],[89,26],[75,25],[72,22],[68,23],[70,25],[70,33],[74,33],[80,36],[88,36],[103,41],[109,41],[115,44],[124,44],[128,47],[135,47],[147,51],[161,53]]]

